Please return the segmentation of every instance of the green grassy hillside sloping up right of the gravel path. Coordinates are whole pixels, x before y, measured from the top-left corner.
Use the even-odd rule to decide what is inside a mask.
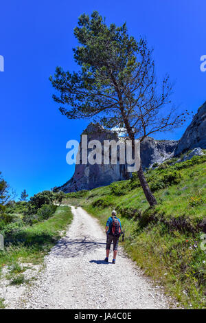
[[[115,209],[126,231],[126,252],[160,282],[179,305],[206,308],[206,252],[201,248],[206,225],[206,156],[174,164],[171,159],[148,170],[158,200],[149,208],[137,175],[128,181],[67,194],[102,225]]]

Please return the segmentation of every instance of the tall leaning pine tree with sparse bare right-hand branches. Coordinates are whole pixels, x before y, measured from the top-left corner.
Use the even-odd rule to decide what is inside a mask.
[[[53,87],[60,112],[69,119],[93,118],[103,126],[126,129],[128,139],[141,142],[157,131],[170,131],[184,120],[171,107],[169,77],[157,83],[152,50],[145,39],[136,41],[122,27],[106,25],[98,12],[91,19],[82,14],[74,35],[80,43],[73,49],[81,70],[70,73],[56,68]],[[67,107],[69,105],[69,107]],[[139,181],[150,205],[157,203],[140,166]]]

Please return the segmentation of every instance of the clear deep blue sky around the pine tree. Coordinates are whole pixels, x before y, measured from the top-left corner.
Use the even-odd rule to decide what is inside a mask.
[[[182,109],[196,112],[206,100],[206,72],[200,70],[206,54],[205,0],[1,1],[0,170],[18,194],[24,188],[30,195],[50,189],[73,175],[66,142],[79,140],[87,123],[60,114],[48,78],[56,65],[76,69],[73,28],[80,14],[93,10],[107,23],[126,21],[130,34],[148,38],[157,75],[168,72],[176,80],[173,100]],[[185,126],[156,137],[179,139]]]

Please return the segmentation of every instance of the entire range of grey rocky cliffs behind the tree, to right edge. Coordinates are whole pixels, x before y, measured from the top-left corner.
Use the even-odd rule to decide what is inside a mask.
[[[174,140],[155,140],[152,137],[146,137],[141,143],[140,151],[143,168],[148,168],[156,163],[161,164],[165,159],[178,156],[192,149],[192,153],[187,155],[189,158],[192,158],[194,155],[203,154],[201,148],[206,148],[205,129],[206,102],[198,109],[190,126],[187,127],[179,142]],[[99,140],[102,147],[104,140],[115,140],[116,142],[121,140],[117,132],[104,129],[100,124],[89,124],[82,134],[87,134],[88,142],[90,140]],[[117,151],[117,164],[76,165],[73,177],[58,189],[63,192],[91,190],[92,188],[109,185],[113,181],[128,179],[130,176],[131,173],[127,172],[127,165],[119,164],[119,154]]]

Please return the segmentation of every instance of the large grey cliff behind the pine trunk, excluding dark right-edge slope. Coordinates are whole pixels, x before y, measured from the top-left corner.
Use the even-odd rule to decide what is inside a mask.
[[[89,124],[82,134],[88,136],[88,142],[90,140],[99,140],[102,144],[102,154],[104,140],[115,140],[116,142],[121,140],[121,138],[118,137],[117,132],[104,129],[100,124]],[[156,162],[161,163],[165,159],[168,159],[174,152],[176,144],[177,142],[172,140],[154,140],[151,137],[147,137],[144,142],[141,143],[141,161],[143,168],[149,167]],[[110,183],[113,183],[113,181],[129,179],[130,176],[131,173],[127,171],[127,164],[119,164],[119,152],[117,151],[116,165],[77,164],[73,177],[58,189],[63,192],[91,190],[92,188],[109,185]]]

